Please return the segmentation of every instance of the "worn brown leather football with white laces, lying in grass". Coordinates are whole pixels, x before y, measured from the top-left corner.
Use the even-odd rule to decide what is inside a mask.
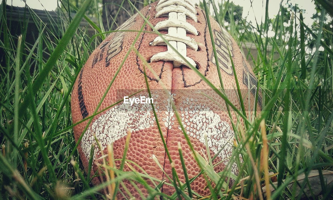
[[[145,24],[139,13],[133,15],[92,52],[75,82],[71,97],[73,123],[93,115],[104,97],[97,109],[97,112],[103,112],[93,117],[88,129],[84,131],[89,120],[74,127],[85,170],[91,167],[91,175],[95,175],[93,184],[105,181],[105,177],[100,175],[103,171],[98,173],[98,163],[103,163],[101,156],[107,155],[108,144],[113,144],[115,167],[119,168],[126,138],[131,131],[126,159],[131,160],[128,163],[140,173],[169,182],[167,177],[172,178],[173,166],[179,180],[184,183],[178,152],[180,143],[188,177],[199,174],[200,168],[185,135],[201,156],[217,154],[213,160],[213,164],[216,164],[214,169],[216,172],[222,171],[233,149],[231,122],[242,125],[243,121],[237,122],[237,115],[232,109],[229,116],[225,101],[193,67],[216,88],[220,88],[212,47],[214,43],[225,94],[236,108],[241,109],[236,89],[237,77],[244,107],[249,114],[255,103],[261,106],[260,95],[256,94],[257,80],[251,66],[228,32],[191,0],[160,0],[140,12],[162,35],[154,33],[154,29],[149,23]],[[207,17],[210,19],[213,41]],[[118,101],[120,103],[110,107]],[[156,117],[150,103],[154,105]],[[178,123],[176,112],[181,123]],[[160,124],[160,130],[157,123]],[[205,136],[209,152],[206,150]],[[89,166],[90,159],[92,166]],[[235,164],[228,167],[237,174]],[[124,171],[132,169],[125,165]],[[155,188],[153,180],[148,182]],[[159,181],[155,184],[159,184]],[[209,195],[206,185],[204,177],[200,175],[191,183],[191,189],[199,195]],[[144,195],[148,194],[143,185],[138,184],[137,187]],[[118,199],[127,196],[127,191],[140,198],[130,181],[124,181],[120,190],[123,194],[118,193]],[[161,191],[170,195],[174,188],[164,184]]]

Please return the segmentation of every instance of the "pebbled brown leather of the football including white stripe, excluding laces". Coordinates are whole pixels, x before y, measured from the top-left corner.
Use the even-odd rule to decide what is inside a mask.
[[[145,17],[149,17],[149,21],[153,26],[158,22],[167,19],[167,17],[154,17],[156,15],[156,6],[157,2],[150,4],[141,10],[141,13]],[[187,56],[195,61],[198,70],[210,82],[212,82],[212,84],[219,87],[220,82],[214,56],[212,54],[213,51],[206,24],[206,16],[204,11],[198,7],[196,7],[196,11],[198,22],[189,19],[186,21],[197,29],[199,35],[186,35],[194,38],[199,49],[198,51],[195,51],[187,48]],[[229,100],[240,109],[239,97],[235,90],[235,75],[237,75],[242,97],[244,99],[244,106],[247,109],[248,115],[251,117],[253,115],[251,111],[255,101],[256,78],[249,67],[250,65],[245,60],[232,37],[226,31],[222,31],[217,22],[212,18],[210,18],[210,21],[226,94],[228,95]],[[118,30],[140,30],[143,24],[144,20],[140,15],[136,14],[121,25]],[[151,33],[151,31],[152,29],[146,25],[144,33],[139,33],[139,40],[135,44],[135,48],[148,62],[150,62],[150,58],[154,54],[167,50],[166,46],[150,45],[150,43],[157,37],[157,35]],[[162,34],[167,33],[167,31],[160,32]],[[90,55],[73,88],[71,100],[73,123],[94,113],[94,110],[137,34],[138,32],[114,32],[110,34]],[[231,62],[229,53],[226,51],[227,49],[230,50],[232,55],[236,74],[234,74],[230,66]],[[184,176],[177,149],[178,142],[181,143],[189,178],[197,175],[200,172],[200,169],[191,156],[191,151],[185,141],[184,135],[179,129],[174,110],[171,108],[170,97],[164,92],[161,82],[163,82],[166,89],[171,94],[175,107],[181,116],[186,134],[190,138],[194,149],[204,156],[202,154],[202,150],[203,152],[206,152],[204,134],[207,134],[211,156],[225,146],[219,156],[214,160],[214,164],[231,156],[234,133],[224,100],[187,66],[182,65],[180,67],[174,67],[172,62],[162,60],[158,62],[150,62],[149,64],[159,76],[159,78],[155,77],[154,74],[146,68],[150,89],[154,95],[154,106],[157,111],[158,120],[161,124],[162,133],[166,140],[171,159],[175,163],[175,169],[179,175],[180,181],[184,182]],[[102,102],[99,111],[118,100],[123,99],[124,96],[130,96],[139,89],[146,89],[143,67],[145,66],[141,59],[132,51],[112,84],[111,89],[107,93],[106,98]],[[214,101],[205,97],[202,93],[210,96]],[[147,89],[136,96],[148,96]],[[260,98],[258,101],[260,101],[261,104]],[[231,112],[231,114],[233,122],[237,123],[235,113]],[[88,120],[74,127],[76,141],[78,141],[81,136],[87,122]],[[242,121],[240,123],[243,124]],[[93,146],[95,150],[95,154],[93,155],[94,164],[92,175],[94,175],[99,169],[96,162],[102,163],[102,159],[100,159],[102,152],[99,151],[99,148],[95,143],[94,134],[100,141],[102,148],[105,148],[103,150],[104,154],[107,154],[107,144],[114,142],[114,157],[116,159],[116,166],[119,167],[119,159],[122,159],[123,156],[125,140],[129,128],[131,128],[133,132],[130,140],[130,147],[127,152],[127,159],[136,162],[145,171],[142,171],[139,167],[133,164],[132,166],[140,173],[148,173],[154,178],[159,180],[166,179],[167,182],[169,182],[166,175],[172,177],[171,165],[166,156],[152,109],[149,105],[145,104],[128,106],[120,103],[93,118],[89,129],[84,133],[80,145],[78,146],[78,151],[84,168],[86,170],[89,168],[88,162],[91,146]],[[164,174],[153,161],[153,154],[164,167],[166,174]],[[216,172],[222,171],[226,163],[227,160],[218,164],[215,167]],[[130,171],[127,166],[125,166],[124,170]],[[235,164],[232,166],[231,170],[233,173],[237,173]],[[101,178],[102,177],[95,177],[93,183],[99,184]],[[148,180],[148,182],[153,188],[155,188],[155,185],[151,180]],[[129,181],[124,181],[124,183],[134,197],[137,199],[142,198]],[[155,183],[158,184],[158,182]],[[193,181],[191,187],[198,194],[205,196],[209,195],[209,190],[205,189],[206,185],[203,176],[200,175]],[[137,184],[137,186],[147,197],[148,193],[144,186],[141,184]],[[121,188],[121,190],[126,194],[124,188]],[[174,192],[172,187],[167,186],[166,184],[162,187],[162,191],[169,195]],[[130,197],[127,194],[126,196]],[[118,193],[118,199],[122,199],[120,193]]]

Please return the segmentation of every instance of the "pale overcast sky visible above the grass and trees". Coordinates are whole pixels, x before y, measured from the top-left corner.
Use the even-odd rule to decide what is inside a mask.
[[[215,2],[218,0],[215,0]],[[219,0],[221,1],[221,0]],[[231,0],[235,4],[238,4],[243,7],[243,17],[245,18],[247,16],[247,21],[255,22],[255,18],[257,21],[261,21],[262,18],[264,18],[265,15],[265,4],[266,1],[264,0],[251,0],[252,1],[252,7],[251,7],[251,1],[250,0]],[[0,0],[2,2],[2,0]],[[57,0],[26,0],[28,6],[35,9],[46,9],[46,10],[55,10],[57,7]],[[283,1],[283,4],[285,4],[287,0]],[[306,12],[303,13],[304,16],[304,22],[308,25],[311,25],[313,20],[311,20],[312,14],[315,12],[315,6],[314,3],[311,0],[290,0],[290,2],[295,5],[298,4],[301,9],[305,9]],[[13,6],[21,6],[23,7],[25,3],[22,0],[7,0],[7,4],[12,4]],[[269,1],[268,5],[268,14],[269,18],[273,18],[277,15],[279,11],[279,0],[271,0]]]

